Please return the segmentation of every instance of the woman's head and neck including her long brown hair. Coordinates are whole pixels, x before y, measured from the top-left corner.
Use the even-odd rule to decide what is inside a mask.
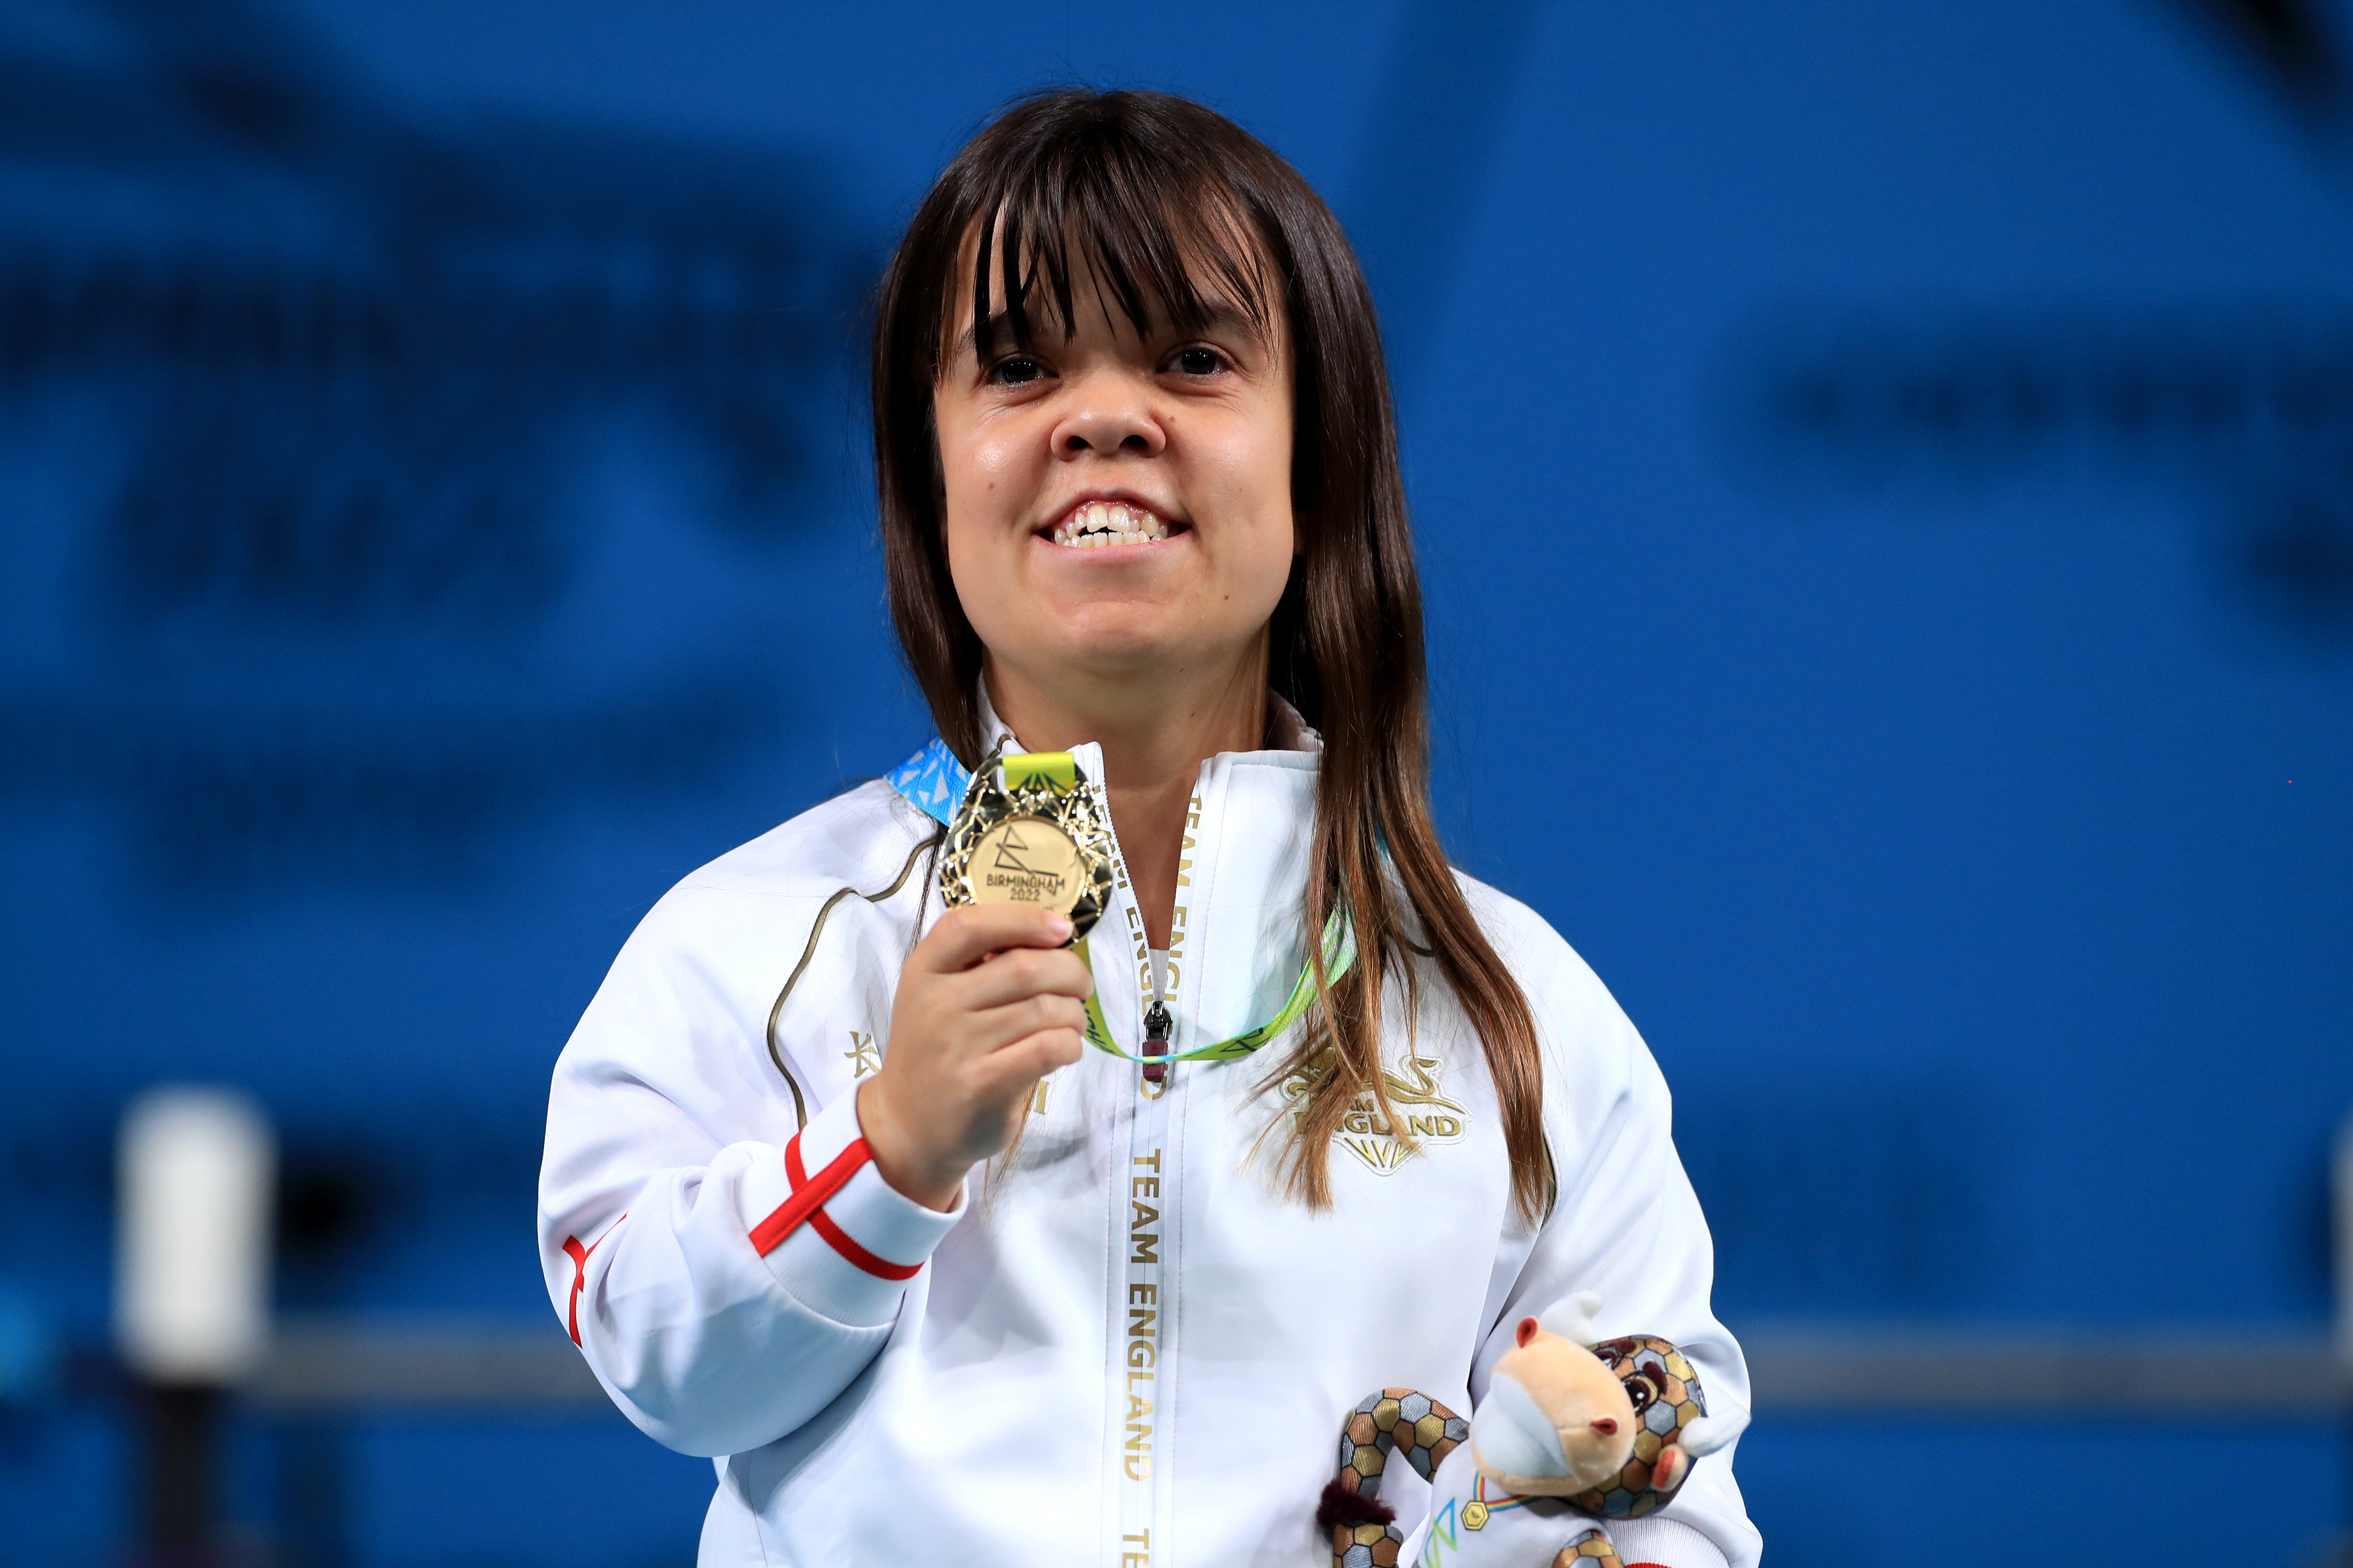
[[[1332,209],[1198,103],[1047,94],[974,136],[918,209],[882,280],[873,383],[892,616],[941,738],[981,750],[986,665],[1026,745],[1104,741],[1155,947],[1198,762],[1259,743],[1268,686],[1320,726],[1304,929],[1346,907],[1369,961],[1294,1051],[1341,1067],[1287,1143],[1294,1190],[1329,1199],[1360,1086],[1391,1110],[1367,994],[1384,976],[1419,985],[1412,919],[1485,1041],[1532,1215],[1548,1180],[1534,1025],[1431,823],[1388,374]],[[1153,510],[1181,548],[1033,548],[1089,498]]]

